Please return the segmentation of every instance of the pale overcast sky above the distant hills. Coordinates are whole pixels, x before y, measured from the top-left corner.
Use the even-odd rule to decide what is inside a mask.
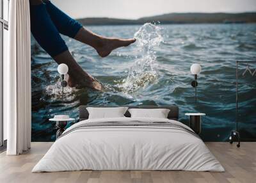
[[[52,0],[74,18],[138,19],[179,12],[256,12],[256,0]]]

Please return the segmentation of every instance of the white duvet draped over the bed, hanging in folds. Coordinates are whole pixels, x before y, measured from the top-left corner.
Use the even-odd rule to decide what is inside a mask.
[[[84,120],[69,127],[53,143],[32,172],[72,170],[225,171],[204,142],[189,132],[168,127],[94,127],[93,122],[170,122],[163,118]]]

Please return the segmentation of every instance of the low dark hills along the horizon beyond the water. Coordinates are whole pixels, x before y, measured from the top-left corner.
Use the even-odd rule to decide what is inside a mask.
[[[141,19],[84,18],[78,19],[84,25],[130,25],[145,22],[161,24],[203,24],[203,23],[252,23],[256,22],[256,12],[249,13],[168,13]]]

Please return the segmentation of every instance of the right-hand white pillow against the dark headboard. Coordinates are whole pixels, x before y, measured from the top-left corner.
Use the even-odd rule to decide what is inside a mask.
[[[128,109],[131,118],[167,118],[170,109]]]

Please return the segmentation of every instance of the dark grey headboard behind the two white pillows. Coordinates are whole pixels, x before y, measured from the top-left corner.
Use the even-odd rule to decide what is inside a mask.
[[[79,121],[87,120],[89,113],[86,107],[129,107],[131,108],[141,108],[141,109],[170,109],[168,113],[168,119],[170,120],[179,120],[179,107],[178,106],[79,106]],[[129,111],[126,111],[124,114],[126,117],[131,117]]]

